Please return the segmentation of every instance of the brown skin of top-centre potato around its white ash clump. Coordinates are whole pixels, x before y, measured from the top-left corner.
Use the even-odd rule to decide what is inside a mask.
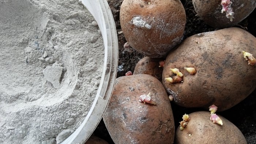
[[[151,28],[135,26],[136,16]],[[120,24],[127,42],[148,57],[165,57],[180,42],[185,23],[185,10],[179,0],[124,0],[121,4]]]

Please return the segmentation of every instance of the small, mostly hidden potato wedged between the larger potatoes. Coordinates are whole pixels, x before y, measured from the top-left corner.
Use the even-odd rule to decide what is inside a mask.
[[[136,64],[133,71],[133,75],[147,74],[147,75],[154,76],[158,80],[162,81],[163,66],[161,67],[159,62],[164,63],[163,59],[143,57]]]

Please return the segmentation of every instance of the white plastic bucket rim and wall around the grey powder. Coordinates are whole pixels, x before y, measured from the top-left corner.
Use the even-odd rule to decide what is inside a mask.
[[[101,30],[105,57],[101,82],[93,105],[83,123],[61,144],[83,144],[89,139],[105,111],[112,94],[118,65],[118,41],[113,15],[106,0],[81,0]]]

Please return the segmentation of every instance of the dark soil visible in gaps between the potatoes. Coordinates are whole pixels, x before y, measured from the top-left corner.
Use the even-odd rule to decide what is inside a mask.
[[[119,61],[118,61],[118,72],[117,77],[124,76],[126,72],[132,71],[135,68],[136,63],[144,56],[136,51],[132,53],[124,51],[124,43],[126,42],[125,37],[120,33],[121,26],[119,20],[120,6],[123,0],[108,0],[110,9],[112,11],[118,36],[118,46],[119,46]],[[191,0],[181,0],[183,4],[186,15],[187,24],[185,27],[185,32],[183,39],[207,31],[214,31],[215,28],[208,26],[206,23],[196,15],[193,4]],[[254,10],[246,19],[237,24],[235,27],[240,27],[254,35],[256,37],[256,10]],[[244,134],[245,139],[248,144],[256,144],[256,90],[252,92],[244,101],[238,103],[236,106],[229,110],[219,112],[220,115],[231,121],[236,125],[241,132]],[[194,111],[199,111],[202,109],[188,109],[180,107],[172,103],[173,115],[175,126],[179,125],[179,121],[183,114],[192,113]],[[98,127],[94,131],[94,135],[108,141],[109,144],[114,144],[105,127],[103,120],[99,123]]]

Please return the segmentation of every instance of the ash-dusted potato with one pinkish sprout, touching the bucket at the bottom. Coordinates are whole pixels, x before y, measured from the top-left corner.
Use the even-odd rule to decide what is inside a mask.
[[[173,144],[170,101],[153,76],[118,77],[103,120],[116,144]]]

